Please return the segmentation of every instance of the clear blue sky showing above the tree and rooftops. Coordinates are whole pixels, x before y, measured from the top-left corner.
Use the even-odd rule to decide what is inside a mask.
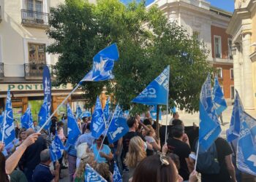
[[[127,2],[132,0],[121,0],[121,2],[124,2],[124,4],[127,4]],[[137,0],[139,1],[139,0]],[[146,0],[146,4],[151,4],[154,0]],[[234,0],[206,0],[211,3],[211,6],[219,7],[220,9],[224,9],[227,12],[233,12],[234,11]]]

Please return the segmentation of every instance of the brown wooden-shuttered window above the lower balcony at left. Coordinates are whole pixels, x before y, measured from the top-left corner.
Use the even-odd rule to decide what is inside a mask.
[[[30,64],[46,63],[45,44],[29,43],[29,63]]]

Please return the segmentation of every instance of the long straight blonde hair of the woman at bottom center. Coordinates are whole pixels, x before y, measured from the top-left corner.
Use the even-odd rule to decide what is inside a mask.
[[[146,143],[139,136],[135,136],[129,141],[129,151],[124,159],[125,165],[129,168],[129,178],[144,158],[146,158]]]

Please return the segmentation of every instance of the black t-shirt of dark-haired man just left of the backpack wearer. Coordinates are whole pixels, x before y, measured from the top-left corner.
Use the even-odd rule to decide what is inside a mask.
[[[189,169],[187,167],[186,158],[189,158],[190,147],[187,143],[179,141],[175,138],[168,138],[167,140],[168,152],[178,155],[180,161],[180,169],[178,174],[184,179],[189,180]]]

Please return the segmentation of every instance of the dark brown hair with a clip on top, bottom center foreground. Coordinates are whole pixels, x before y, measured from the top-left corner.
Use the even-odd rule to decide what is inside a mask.
[[[136,167],[132,182],[174,182],[176,181],[176,166],[167,157],[169,165],[162,165],[159,155],[143,159]]]

